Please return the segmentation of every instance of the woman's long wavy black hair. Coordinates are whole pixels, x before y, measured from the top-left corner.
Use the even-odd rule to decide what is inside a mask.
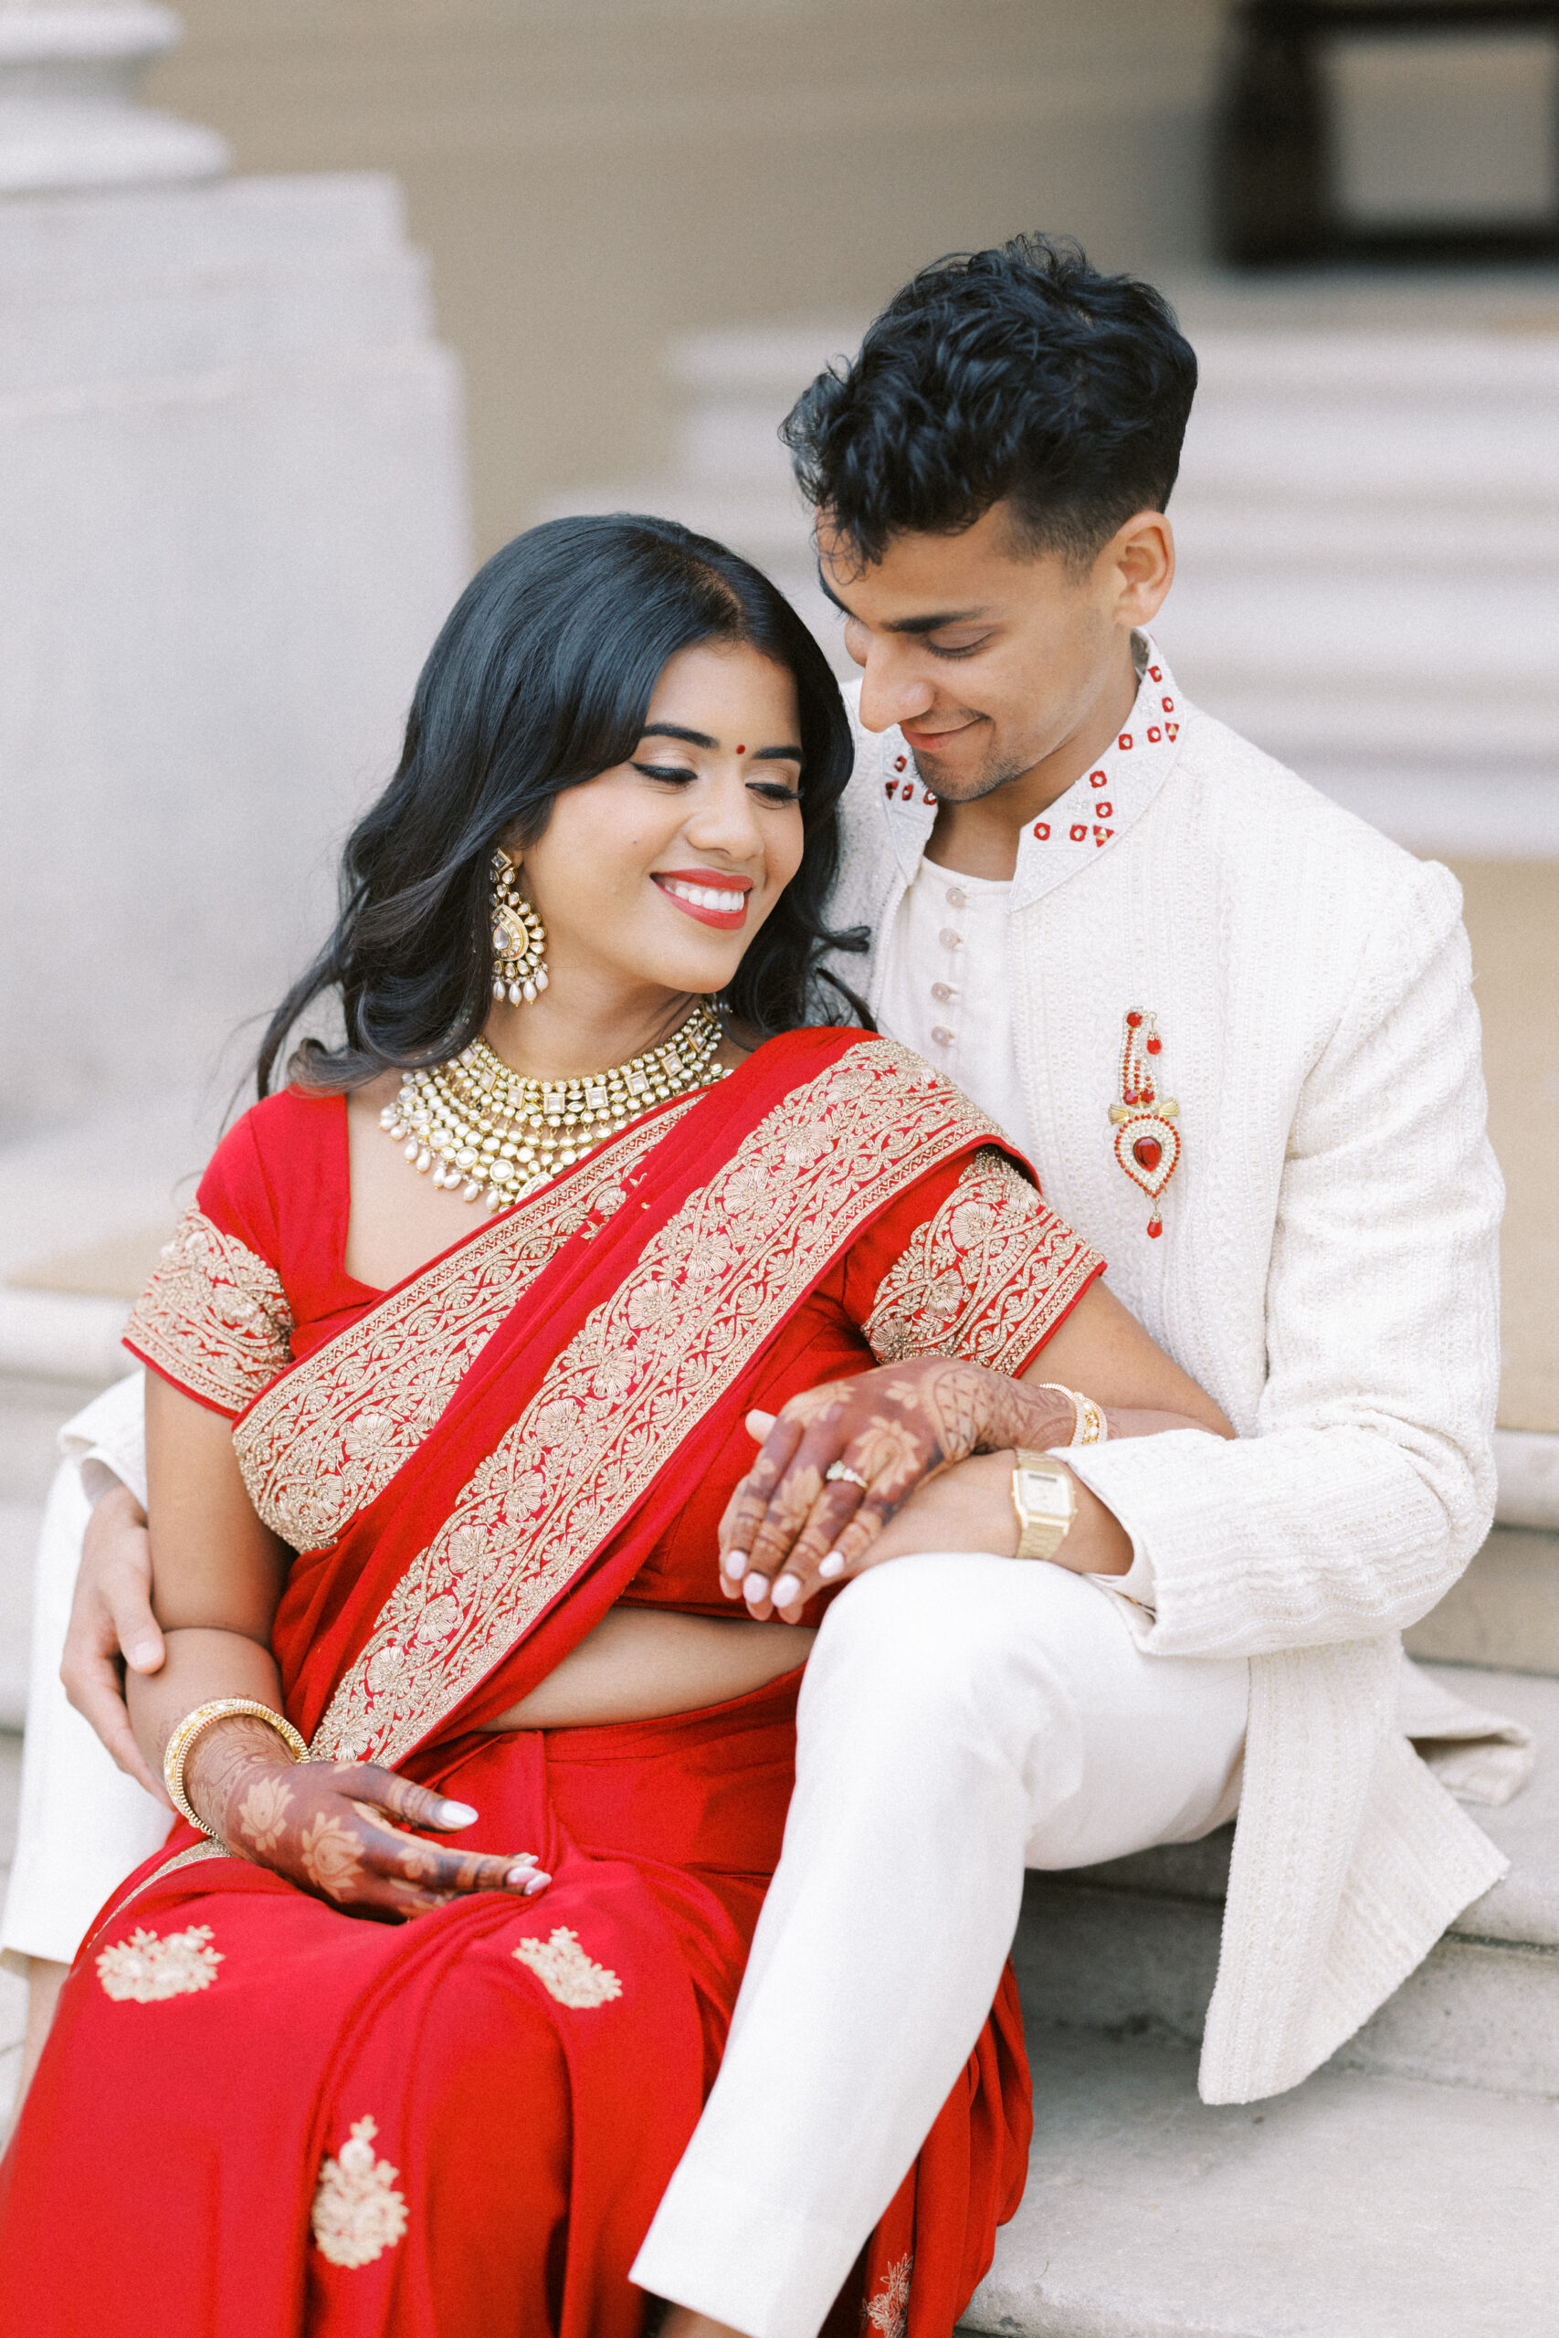
[[[297,1019],[337,994],[341,1045],[304,1040],[287,1066],[316,1090],[442,1064],[491,1010],[489,865],[524,851],[552,802],[626,762],[666,659],[701,641],[755,648],[795,678],[802,718],[802,865],[743,956],[725,1005],[764,1038],[818,1019],[825,949],[865,933],[823,919],[839,860],[851,727],[823,650],[785,596],[725,545],[671,519],[549,519],[465,587],[421,671],[395,779],[341,856],[341,912],[271,1015],[255,1064],[269,1094]]]

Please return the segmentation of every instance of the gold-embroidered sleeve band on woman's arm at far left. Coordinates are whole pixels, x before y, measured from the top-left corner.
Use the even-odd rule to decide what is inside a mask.
[[[292,1309],[276,1267],[224,1234],[199,1202],[164,1244],[126,1344],[220,1412],[243,1412],[292,1361]]]

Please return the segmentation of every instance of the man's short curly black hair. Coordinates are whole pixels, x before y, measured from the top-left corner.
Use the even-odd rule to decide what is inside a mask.
[[[1103,276],[1078,243],[1014,236],[921,269],[781,437],[865,566],[1003,500],[1019,549],[1092,561],[1131,512],[1169,503],[1194,390],[1162,292]]]

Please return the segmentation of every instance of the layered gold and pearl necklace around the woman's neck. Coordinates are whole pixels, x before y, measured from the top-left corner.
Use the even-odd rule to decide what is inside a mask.
[[[507,1209],[650,1106],[722,1080],[720,1036],[713,1008],[699,1001],[659,1047],[580,1080],[526,1080],[474,1038],[453,1061],[409,1071],[379,1127],[418,1174],[432,1171],[435,1185],[460,1185],[465,1202]]]

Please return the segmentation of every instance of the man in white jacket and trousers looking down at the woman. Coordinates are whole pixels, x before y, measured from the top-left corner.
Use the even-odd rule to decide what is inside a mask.
[[[675,2338],[818,2331],[979,2032],[1024,1861],[1239,1805],[1218,2102],[1297,2083],[1501,1873],[1393,1725],[1395,1634],[1494,1499],[1458,895],[1183,704],[1145,629],[1192,390],[1155,292],[1033,241],[926,271],[788,423],[862,666],[834,924],[872,931],[869,1003],[1239,1443],[1063,1450],[1115,1588],[1066,1541],[1014,1564],[1017,1513],[961,1548],[933,1485],[942,1552],[830,1611],[727,2060],[636,2266]],[[112,1732],[105,1648],[145,1620],[108,1541],[70,1662]],[[732,1588],[797,1613],[811,1573]]]

